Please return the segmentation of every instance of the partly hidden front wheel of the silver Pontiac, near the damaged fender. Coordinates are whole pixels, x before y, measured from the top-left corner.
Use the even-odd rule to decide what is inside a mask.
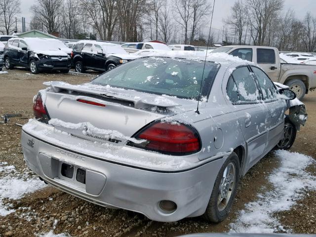
[[[275,150],[288,150],[292,147],[295,138],[296,138],[296,127],[295,125],[290,121],[288,116],[284,119],[284,138],[279,141],[279,143],[276,145]]]

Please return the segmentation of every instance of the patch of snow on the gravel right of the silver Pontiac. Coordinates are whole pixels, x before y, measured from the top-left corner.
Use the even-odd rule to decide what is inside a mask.
[[[259,199],[249,202],[241,210],[237,221],[231,224],[233,233],[274,233],[286,231],[274,216],[274,213],[289,210],[303,197],[302,189],[316,190],[316,177],[305,171],[315,162],[303,154],[276,151],[280,166],[269,176],[274,190],[258,195]]]

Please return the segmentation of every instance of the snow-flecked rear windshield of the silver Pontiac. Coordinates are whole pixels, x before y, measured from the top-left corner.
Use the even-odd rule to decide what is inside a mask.
[[[110,85],[153,94],[197,99],[208,96],[218,63],[165,57],[146,57],[130,61],[94,79],[92,84]]]

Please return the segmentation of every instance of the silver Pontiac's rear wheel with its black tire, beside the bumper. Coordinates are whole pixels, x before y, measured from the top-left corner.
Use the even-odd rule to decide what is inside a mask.
[[[232,178],[232,176],[224,178],[225,169],[228,167],[232,167],[232,165],[235,167],[235,178]],[[223,221],[228,216],[236,197],[240,172],[239,166],[240,165],[238,156],[235,152],[233,152],[224,162],[215,180],[211,197],[208,201],[206,210],[202,215],[202,217],[206,221],[218,223]],[[226,183],[225,181],[228,181],[228,183]],[[222,189],[220,190],[220,186],[221,188],[224,187],[223,192],[221,191]],[[223,204],[225,198],[222,201],[218,202],[219,197],[223,197],[222,193],[224,193],[224,195],[227,195],[226,197],[229,196],[228,200],[226,199],[225,205]]]

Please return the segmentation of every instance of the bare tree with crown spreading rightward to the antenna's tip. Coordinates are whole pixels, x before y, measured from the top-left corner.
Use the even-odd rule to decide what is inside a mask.
[[[201,27],[201,22],[205,16],[211,10],[211,5],[206,0],[192,0],[192,30],[190,43],[193,42],[199,28]]]

